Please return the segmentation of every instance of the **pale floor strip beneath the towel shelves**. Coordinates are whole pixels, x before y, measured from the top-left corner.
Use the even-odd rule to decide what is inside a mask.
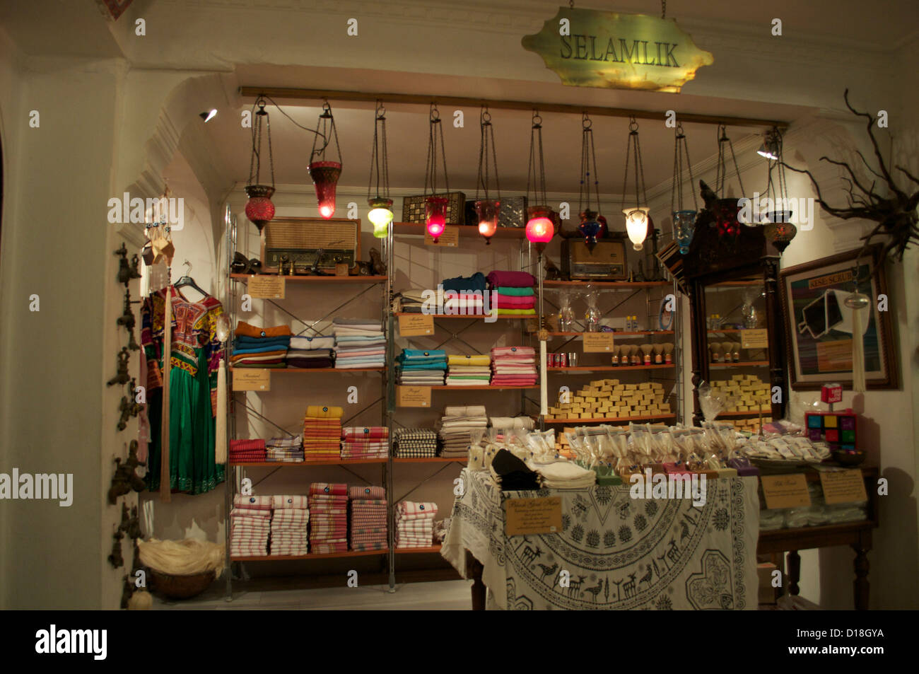
[[[154,596],[154,611],[471,611],[471,581],[406,583],[357,588],[249,589],[226,601],[221,583],[191,600],[164,601]]]

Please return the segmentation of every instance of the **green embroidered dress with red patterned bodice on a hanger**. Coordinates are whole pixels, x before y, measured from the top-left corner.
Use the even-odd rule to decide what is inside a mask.
[[[163,419],[163,318],[166,289],[143,301],[141,343],[147,359],[147,402],[151,441],[146,482],[160,488]],[[217,370],[221,343],[217,317],[221,303],[210,297],[189,302],[172,288],[172,369],[169,375],[169,487],[203,494],[223,482],[223,466],[214,463]]]

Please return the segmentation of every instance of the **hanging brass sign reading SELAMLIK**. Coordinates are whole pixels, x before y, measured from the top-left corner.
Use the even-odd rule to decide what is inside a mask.
[[[562,31],[566,24],[569,30]],[[678,94],[700,67],[715,61],[672,18],[574,7],[559,7],[521,43],[569,86]]]

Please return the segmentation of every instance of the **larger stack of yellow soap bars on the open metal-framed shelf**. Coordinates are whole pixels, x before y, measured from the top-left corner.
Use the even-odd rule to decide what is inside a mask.
[[[547,419],[602,419],[669,415],[660,382],[619,383],[598,379],[571,394],[569,402],[550,407]]]

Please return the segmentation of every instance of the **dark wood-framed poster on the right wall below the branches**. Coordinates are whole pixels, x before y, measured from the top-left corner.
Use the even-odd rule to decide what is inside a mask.
[[[887,280],[879,264],[879,246],[858,257],[852,250],[782,269],[782,310],[788,343],[791,386],[816,390],[839,382],[852,388],[852,340],[862,339],[868,389],[897,388],[899,367],[893,348],[890,311],[879,311]],[[845,298],[857,290],[868,295],[862,309],[861,335],[853,334],[852,309]]]

